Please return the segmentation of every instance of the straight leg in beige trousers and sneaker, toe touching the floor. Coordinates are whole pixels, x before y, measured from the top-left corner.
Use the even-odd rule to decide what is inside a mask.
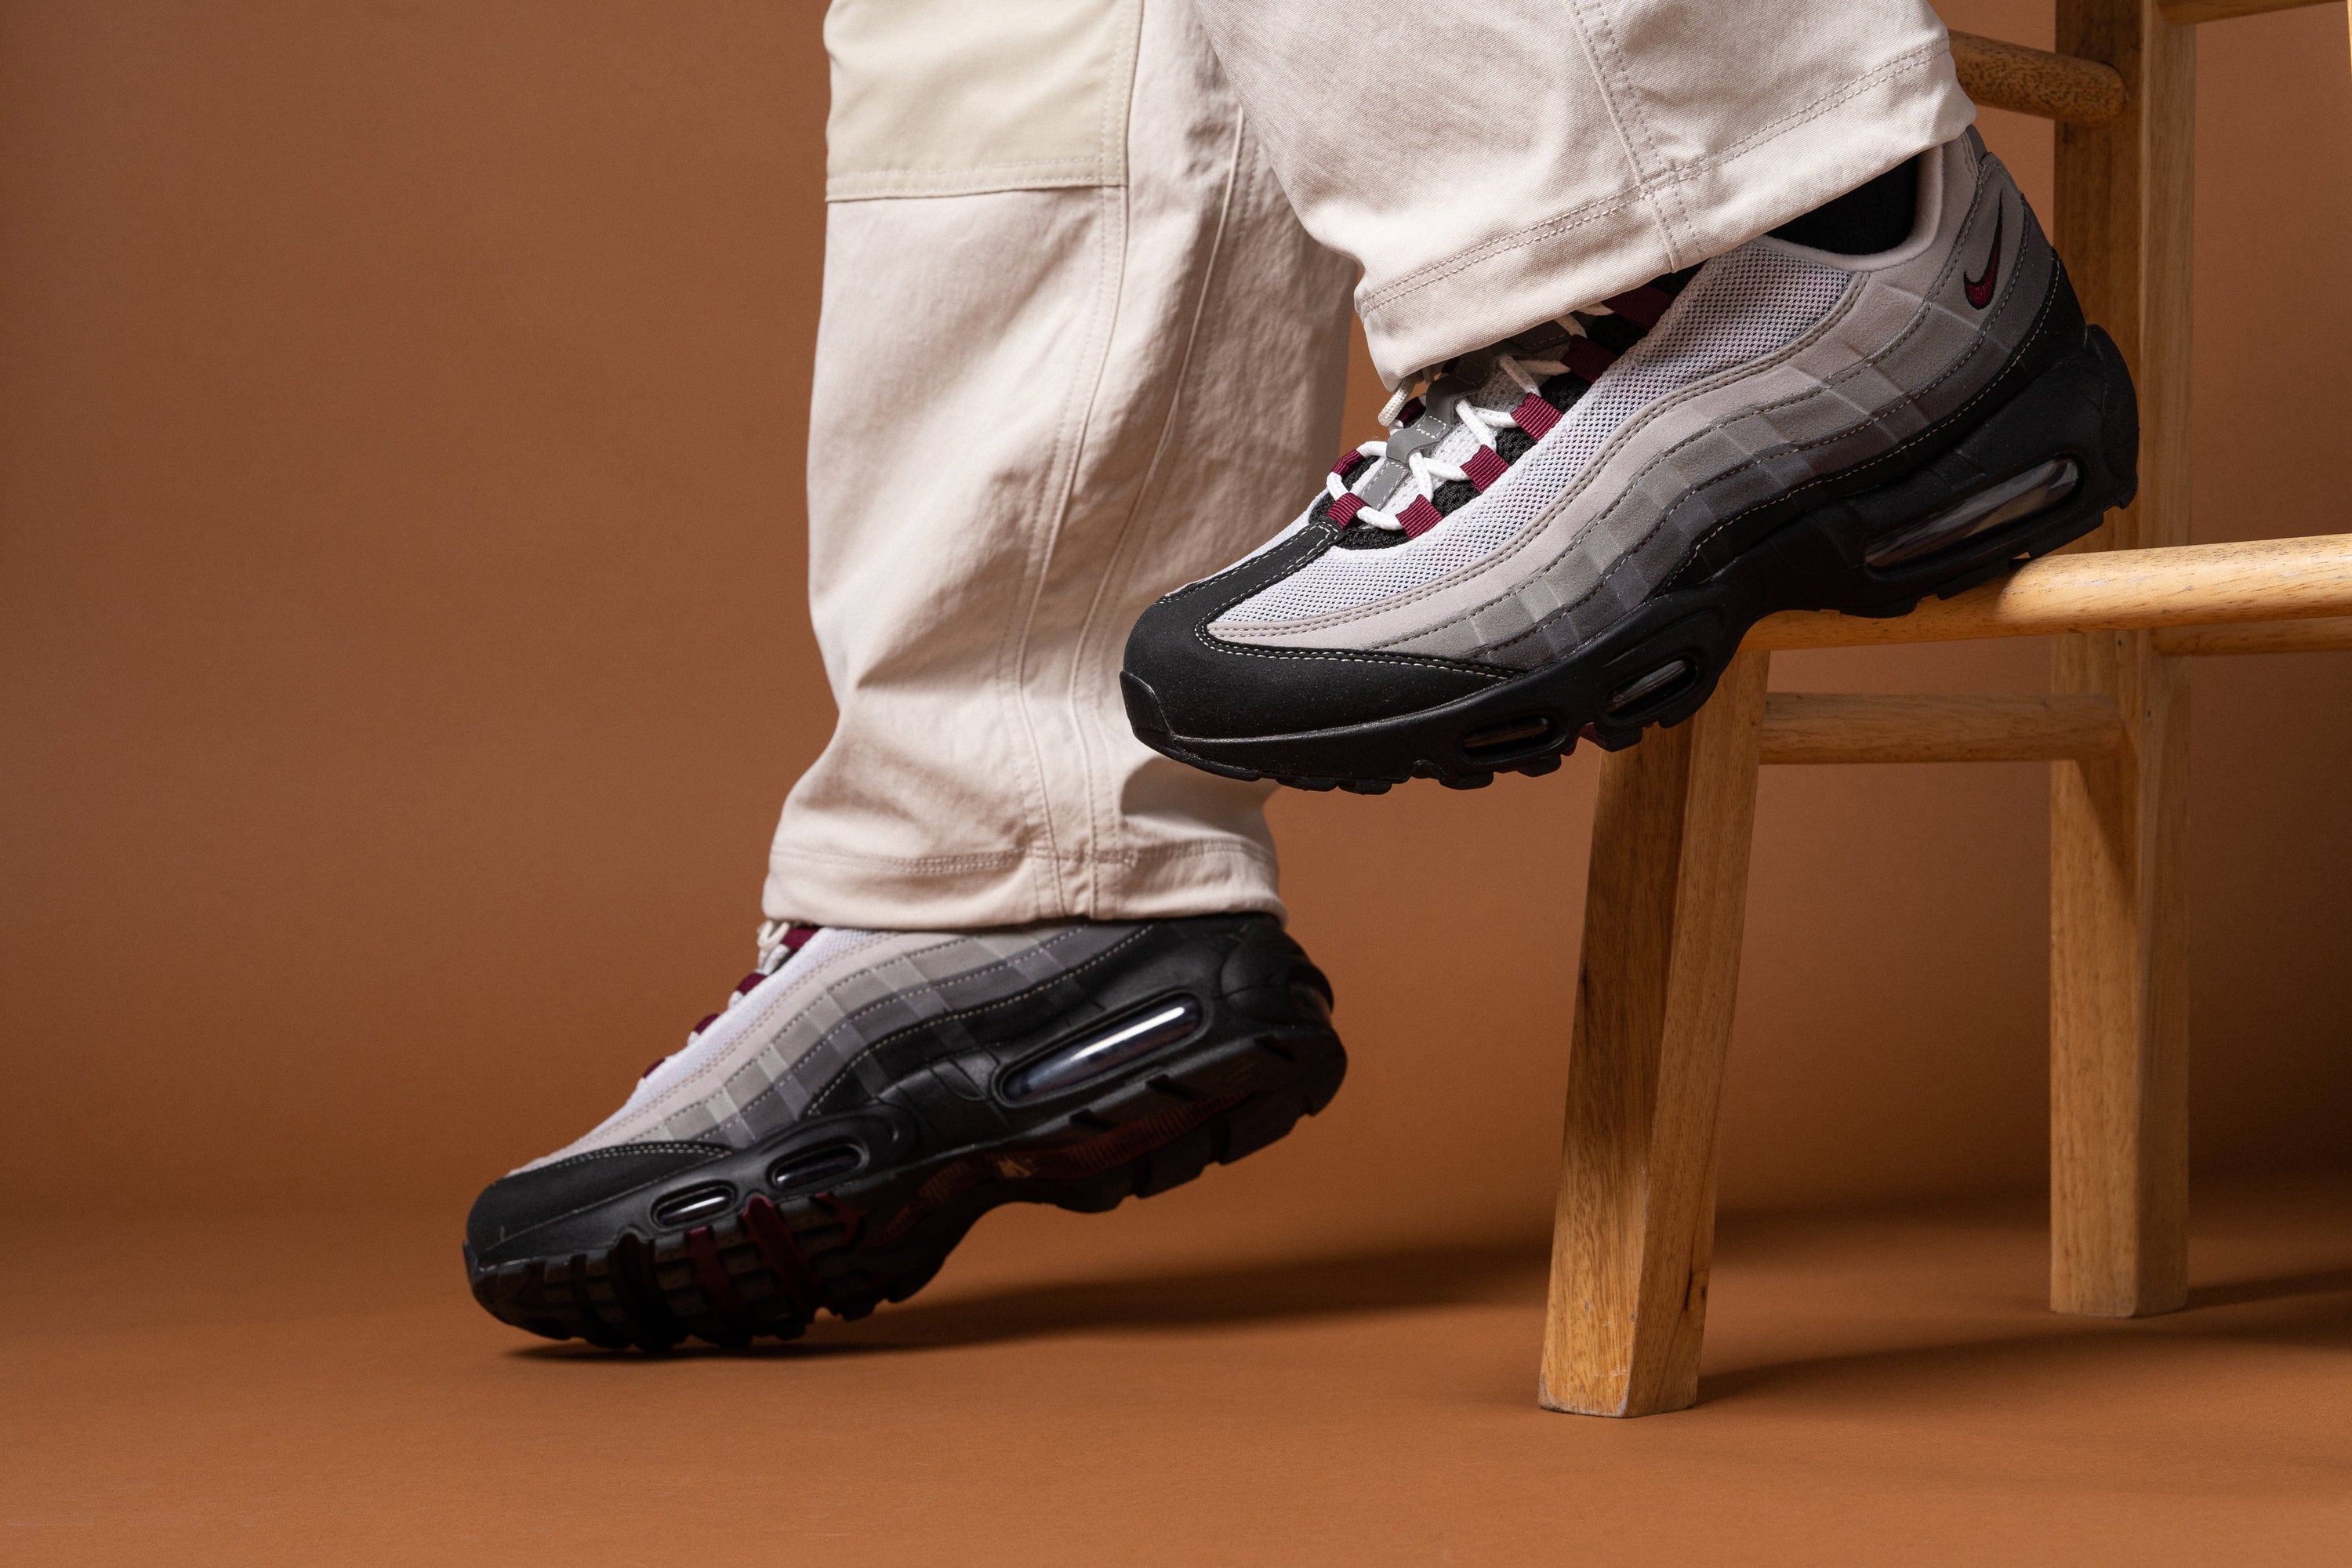
[[[1345,1067],[1263,788],[1152,755],[1117,698],[1152,595],[1322,468],[1345,263],[1181,0],[837,0],[826,33],[840,729],[786,804],[760,969],[475,1201],[475,1298],[553,1338],[858,1316],[985,1208],[1162,1192]]]

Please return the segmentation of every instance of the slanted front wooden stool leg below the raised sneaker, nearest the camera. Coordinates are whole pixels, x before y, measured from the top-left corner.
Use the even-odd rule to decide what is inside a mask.
[[[1552,1410],[1698,1401],[1769,661],[1740,654],[1698,717],[1602,764],[1536,1389]]]

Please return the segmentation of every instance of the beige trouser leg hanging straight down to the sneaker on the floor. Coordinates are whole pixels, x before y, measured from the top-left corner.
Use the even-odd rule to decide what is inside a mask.
[[[840,724],[767,914],[1279,912],[1263,785],[1136,743],[1136,614],[1329,463],[1348,268],[1183,2],[828,16],[811,609]]]

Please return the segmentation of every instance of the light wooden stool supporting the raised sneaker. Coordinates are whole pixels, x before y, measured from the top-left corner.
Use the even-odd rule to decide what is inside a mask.
[[[2310,0],[2058,0],[2063,54],[1952,35],[1980,103],[2058,120],[2053,240],[2140,390],[2140,494],[2079,550],[1898,621],[1759,623],[1689,722],[1602,764],[1538,1399],[1698,1399],[1715,1121],[1757,766],[2051,762],[2051,1307],[2187,1298],[2183,658],[2352,649],[2352,536],[2187,543],[2199,21]],[[1766,693],[1773,649],[2042,637],[2051,696]]]

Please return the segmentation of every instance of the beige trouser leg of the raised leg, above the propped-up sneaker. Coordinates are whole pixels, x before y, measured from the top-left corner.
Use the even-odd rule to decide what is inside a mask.
[[[1390,386],[1976,118],[1926,0],[1195,0]]]

